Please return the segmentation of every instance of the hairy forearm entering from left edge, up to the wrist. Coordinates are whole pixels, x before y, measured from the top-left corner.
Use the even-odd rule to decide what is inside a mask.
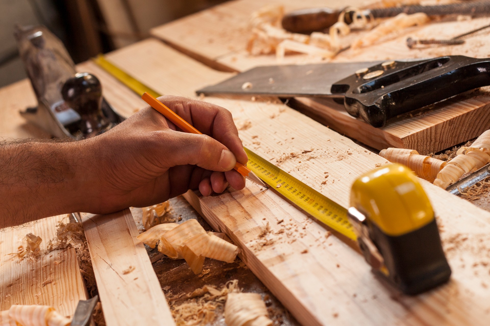
[[[0,228],[80,207],[87,154],[86,141],[0,143]]]

